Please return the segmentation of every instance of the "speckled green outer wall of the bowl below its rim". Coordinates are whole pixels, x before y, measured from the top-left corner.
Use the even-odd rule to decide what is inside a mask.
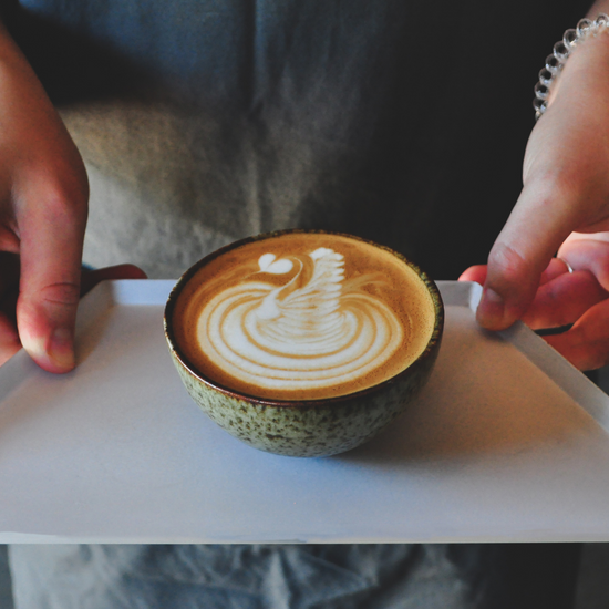
[[[440,341],[395,380],[340,401],[265,403],[223,392],[197,378],[172,350],[174,364],[198,406],[246,444],[287,456],[319,457],[350,451],[386,427],[419,394],[432,372]]]

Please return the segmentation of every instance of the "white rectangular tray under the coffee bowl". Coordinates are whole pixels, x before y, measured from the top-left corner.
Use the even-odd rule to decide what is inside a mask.
[[[163,337],[173,281],[82,302],[78,369],[0,369],[0,543],[609,540],[609,398],[522,324],[479,330],[479,287],[440,282],[422,396],[370,444],[298,460],[190,401]]]

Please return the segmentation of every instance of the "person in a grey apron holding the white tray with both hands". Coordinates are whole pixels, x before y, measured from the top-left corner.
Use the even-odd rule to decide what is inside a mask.
[[[122,9],[114,3],[97,13],[86,2],[71,10],[51,0],[21,4],[29,9],[30,31],[37,35],[41,32],[35,29],[41,24],[37,19],[42,20],[47,30],[59,23],[54,45],[49,45],[59,54],[61,41],[66,37],[82,44],[84,33],[101,33],[93,47],[83,47],[87,51],[84,58],[94,60],[89,65],[94,79],[86,81],[86,74],[79,71],[79,65],[74,66],[74,60],[65,58],[62,69],[72,73],[62,121],[39,81],[39,74],[42,78],[49,68],[44,62],[47,45],[40,40],[33,45],[44,48],[41,59],[31,49],[27,32],[23,34],[28,28],[19,32],[23,37],[22,48],[31,51],[30,61],[34,65],[38,62],[37,74],[7,30],[1,31],[0,361],[22,345],[50,372],[72,370],[73,328],[81,291],[104,278],[144,277],[144,271],[134,266],[83,273],[83,247],[85,258],[94,266],[102,266],[112,257],[113,261],[125,259],[125,252],[131,252],[132,260],[135,258],[141,267],[148,265],[145,270],[155,276],[184,270],[188,256],[200,257],[202,250],[214,249],[223,240],[281,228],[288,223],[303,227],[314,224],[360,233],[395,249],[410,249],[412,258],[421,260],[432,276],[447,272],[451,277],[455,266],[462,265],[463,269],[466,259],[473,264],[472,258],[481,256],[488,239],[493,239],[489,235],[498,233],[493,227],[504,221],[487,266],[473,266],[461,277],[485,286],[477,312],[481,324],[499,330],[516,319],[524,319],[533,328],[574,323],[568,332],[548,337],[548,342],[581,369],[609,361],[606,272],[609,148],[603,135],[609,126],[609,91],[601,72],[609,55],[609,37],[587,41],[565,66],[547,113],[528,138],[524,187],[506,220],[504,211],[512,207],[514,188],[497,188],[497,184],[510,184],[503,176],[509,173],[506,165],[515,158],[518,142],[510,143],[509,130],[516,123],[525,125],[519,120],[524,114],[507,107],[512,104],[481,100],[488,90],[486,82],[474,78],[473,70],[487,68],[491,73],[492,62],[499,61],[505,79],[495,80],[495,94],[499,100],[508,95],[509,90],[502,86],[520,78],[519,62],[515,61],[513,48],[500,48],[494,39],[505,43],[512,40],[510,28],[520,27],[523,39],[529,41],[523,43],[528,53],[538,38],[538,27],[550,29],[551,20],[545,19],[544,8],[523,2],[520,10],[514,8],[509,14],[502,14],[502,23],[509,33],[502,38],[494,28],[496,22],[487,14],[458,7],[425,6],[424,11],[414,8],[409,12],[393,2],[373,7],[353,2],[348,14],[342,16],[331,14],[333,3],[324,8],[301,3],[298,10],[293,2],[285,7],[269,3],[267,8],[272,10],[259,14],[248,13],[244,4],[249,28],[241,31],[239,22],[231,21],[231,16],[217,6],[199,10],[198,20],[193,21],[179,14],[180,10],[195,10],[188,2],[175,11],[164,6],[162,14],[144,10],[145,2]],[[609,12],[608,4],[607,0],[596,2],[590,14]],[[574,3],[574,14],[576,9],[579,11]],[[518,22],[522,14],[533,14],[535,19]],[[571,22],[567,17],[566,12],[557,11],[551,22],[562,18],[566,23]],[[140,35],[137,32],[142,30],[134,27],[130,30],[125,25],[128,20],[135,20],[133,23],[142,28],[147,24],[156,38],[147,30]],[[7,21],[10,22],[8,18]],[[171,38],[168,28],[164,29],[158,21],[171,23],[182,38]],[[469,27],[476,35],[457,35],[455,22]],[[193,23],[205,35],[190,30]],[[409,29],[409,23],[422,27]],[[280,25],[292,28],[291,35],[282,38]],[[326,38],[316,28],[326,28]],[[18,30],[16,27],[16,33]],[[409,37],[404,38],[404,32]],[[349,41],[350,35],[357,45],[347,50],[328,42]],[[194,59],[182,53],[180,40],[187,40],[199,53]],[[134,71],[130,71],[128,61],[120,61],[123,55],[114,63],[110,60],[102,63],[104,70],[97,70],[97,47],[107,51],[107,41],[114,41],[113,49],[133,62]],[[450,47],[446,41],[461,51],[465,68],[444,61]],[[246,51],[238,53],[233,45],[241,42]],[[484,63],[486,58],[478,49],[483,43],[494,49],[499,59],[488,53],[491,63]],[[421,60],[419,65],[413,61],[413,49],[422,48],[427,61]],[[256,50],[256,61],[250,58],[251,49]],[[152,63],[147,63],[148,55],[153,55],[155,70],[161,66],[154,83],[146,80],[154,71]],[[417,56],[422,55],[423,52]],[[399,61],[393,61],[394,56]],[[287,59],[281,62],[278,58]],[[438,87],[441,94],[435,96],[433,89],[430,93],[422,87],[416,89],[420,94],[412,95],[413,86],[429,82],[429,66],[434,62],[441,69],[431,80],[443,84]],[[406,73],[407,79],[403,75]],[[463,78],[472,89],[462,87],[458,96],[456,84]],[[111,93],[100,92],[97,80],[115,89]],[[91,99],[74,97],[74,82],[89,84]],[[131,87],[126,93],[125,83]],[[52,79],[45,85],[52,91]],[[100,105],[91,101],[95,95],[103,97]],[[127,101],[116,102],[118,97]],[[153,97],[155,102],[149,105],[144,97]],[[496,106],[510,117],[506,127],[502,125],[505,116],[495,115]],[[491,131],[476,128],[477,118],[481,124],[491,125]],[[151,124],[155,131],[147,141]],[[112,135],[110,140],[107,133]],[[156,141],[159,133],[165,137]],[[96,143],[92,144],[93,140]],[[471,145],[465,149],[462,143],[468,140]],[[166,154],[166,141],[172,144],[171,155]],[[481,154],[481,149],[496,146],[497,141],[504,146],[499,162],[484,152]],[[134,146],[134,142],[140,145]],[[411,146],[411,142],[416,146]],[[87,159],[86,171],[79,149]],[[115,166],[112,153],[116,149],[124,153],[121,161],[130,171],[128,176]],[[455,155],[455,149],[462,155]],[[155,154],[161,164],[155,165],[158,163]],[[193,157],[196,167],[188,165]],[[148,165],[158,171],[147,171]],[[87,173],[93,186],[89,245],[85,244]],[[174,179],[173,175],[178,177]],[[472,197],[471,205],[452,204],[455,184]],[[157,186],[163,200],[154,198]],[[110,204],[102,200],[104,197]],[[443,197],[450,198],[450,203],[444,204]],[[125,204],[127,199],[132,203]],[[417,199],[416,205],[407,206],[404,199]],[[164,200],[169,203],[165,205]],[[236,200],[245,204],[239,207]],[[110,205],[110,211],[101,216],[104,205]],[[183,224],[176,219],[178,216],[185,218]],[[471,234],[474,224],[481,220],[484,235],[464,239],[465,231]],[[151,251],[158,250],[159,234],[151,231],[153,224],[169,227],[173,235],[161,241],[164,250],[155,251],[154,257]],[[144,237],[134,244],[133,238],[122,233],[124,227],[131,230],[131,236],[137,227]],[[176,241],[183,247],[176,248]],[[441,247],[434,246],[436,242]],[[198,248],[193,244],[198,244]],[[184,250],[188,250],[187,256]],[[569,272],[567,265],[574,272]],[[226,575],[227,565],[240,577],[231,585],[241,586],[241,596],[230,597],[230,586],[221,588],[221,592],[216,588],[216,592],[209,592],[216,593],[215,600],[209,597],[206,607],[229,607],[229,602],[240,607],[261,607],[264,602],[272,607],[306,607],[316,602],[331,607],[331,602],[338,602],[337,606],[347,609],[371,602],[379,590],[384,591],[376,599],[379,607],[415,607],[416,602],[455,608],[500,607],[500,602],[558,607],[559,601],[551,592],[545,597],[525,593],[510,605],[516,598],[510,593],[519,592],[510,592],[509,586],[489,584],[488,578],[481,580],[479,565],[486,560],[496,570],[503,567],[520,582],[534,584],[523,569],[510,571],[509,565],[519,559],[525,564],[525,557],[536,550],[517,549],[507,551],[514,550],[516,557],[509,561],[505,559],[506,553],[494,546],[364,546],[342,551],[333,547],[286,547],[271,551],[258,546],[210,547],[206,551],[194,547],[78,550],[66,547],[59,551],[16,548],[11,560],[21,590],[19,607],[35,607],[40,595],[54,593],[58,582],[63,591],[56,592],[55,605],[49,601],[49,606],[78,606],[74,602],[79,601],[69,598],[65,587],[66,581],[76,586],[74,574],[86,582],[83,586],[89,586],[81,593],[93,598],[95,590],[100,607],[121,603],[127,607],[130,598],[121,593],[128,589],[133,572],[138,569],[145,577],[137,579],[132,592],[136,590],[146,599],[142,602],[149,601],[154,607],[153,597],[161,602],[159,595],[169,593],[172,577],[185,578],[186,574],[188,586],[204,585],[207,577],[217,582],[217,578]],[[556,551],[555,556],[560,556]],[[92,571],[86,569],[95,564],[104,565],[102,571],[107,576],[101,590]],[[292,577],[275,580],[275,587],[264,597],[266,600],[260,600],[262,597],[256,597],[252,590],[259,580],[252,584],[248,579],[252,577],[252,564],[267,574],[290,572]],[[560,560],[551,564],[557,572]],[[379,570],[378,565],[384,569]],[[312,574],[311,581],[327,591],[326,597],[311,596],[310,590],[316,588],[311,581],[304,586],[308,598],[302,596],[302,587],[280,595],[281,586],[298,580],[293,574],[302,570]],[[102,571],[93,569],[97,576]],[[343,576],[340,593],[332,578],[321,581],[322,575],[330,571]],[[354,580],[350,577],[353,571],[367,577]],[[404,577],[406,572],[410,579]],[[538,585],[547,584],[548,578],[535,580]],[[38,585],[32,586],[32,581]],[[416,587],[419,595],[413,591]],[[23,591],[27,589],[30,591]],[[363,589],[369,591],[362,596]],[[494,590],[495,596],[488,590]],[[497,600],[499,597],[502,601]],[[550,597],[553,600],[548,600]],[[562,595],[562,601],[568,602],[568,597]],[[186,602],[195,601],[184,600],[182,606],[196,606]],[[95,607],[93,600],[91,607]]]

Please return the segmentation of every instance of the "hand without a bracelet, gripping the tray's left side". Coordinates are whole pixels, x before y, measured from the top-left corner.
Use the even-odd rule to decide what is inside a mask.
[[[0,363],[22,344],[44,370],[68,372],[74,368],[86,172],[1,24],[0,83]]]

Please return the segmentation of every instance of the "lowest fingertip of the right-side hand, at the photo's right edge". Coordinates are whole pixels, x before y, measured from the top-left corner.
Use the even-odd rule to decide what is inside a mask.
[[[609,363],[609,300],[589,309],[562,334],[544,337],[579,370],[595,370]]]

